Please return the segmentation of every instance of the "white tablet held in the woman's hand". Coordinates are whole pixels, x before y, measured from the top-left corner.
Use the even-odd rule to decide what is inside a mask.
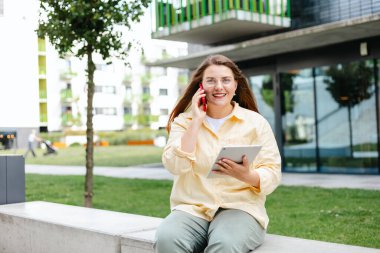
[[[218,175],[216,173],[213,173],[212,171],[219,170],[219,166],[216,164],[216,162],[219,161],[220,159],[227,158],[236,163],[242,163],[243,162],[242,158],[244,155],[246,155],[248,159],[248,163],[251,164],[255,160],[260,149],[261,149],[261,146],[259,145],[225,146],[221,148],[208,174],[208,177]]]

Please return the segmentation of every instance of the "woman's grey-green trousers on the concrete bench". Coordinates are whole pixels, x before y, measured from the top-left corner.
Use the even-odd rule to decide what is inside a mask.
[[[183,211],[171,212],[158,227],[156,253],[248,253],[264,241],[255,218],[236,209],[220,209],[208,222]]]

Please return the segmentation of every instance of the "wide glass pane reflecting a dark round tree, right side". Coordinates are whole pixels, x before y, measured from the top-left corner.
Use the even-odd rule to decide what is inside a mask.
[[[373,61],[317,69],[321,171],[376,173],[378,137]]]

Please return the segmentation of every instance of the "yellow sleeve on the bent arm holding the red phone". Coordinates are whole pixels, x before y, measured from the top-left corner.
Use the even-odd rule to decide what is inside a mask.
[[[187,129],[183,117],[177,117],[172,125],[168,143],[162,154],[162,163],[173,175],[191,172],[195,161],[195,151],[188,153],[181,150],[181,138]]]

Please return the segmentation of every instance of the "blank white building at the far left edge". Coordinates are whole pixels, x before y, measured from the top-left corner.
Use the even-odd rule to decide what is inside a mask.
[[[0,147],[40,127],[36,1],[0,1]]]

